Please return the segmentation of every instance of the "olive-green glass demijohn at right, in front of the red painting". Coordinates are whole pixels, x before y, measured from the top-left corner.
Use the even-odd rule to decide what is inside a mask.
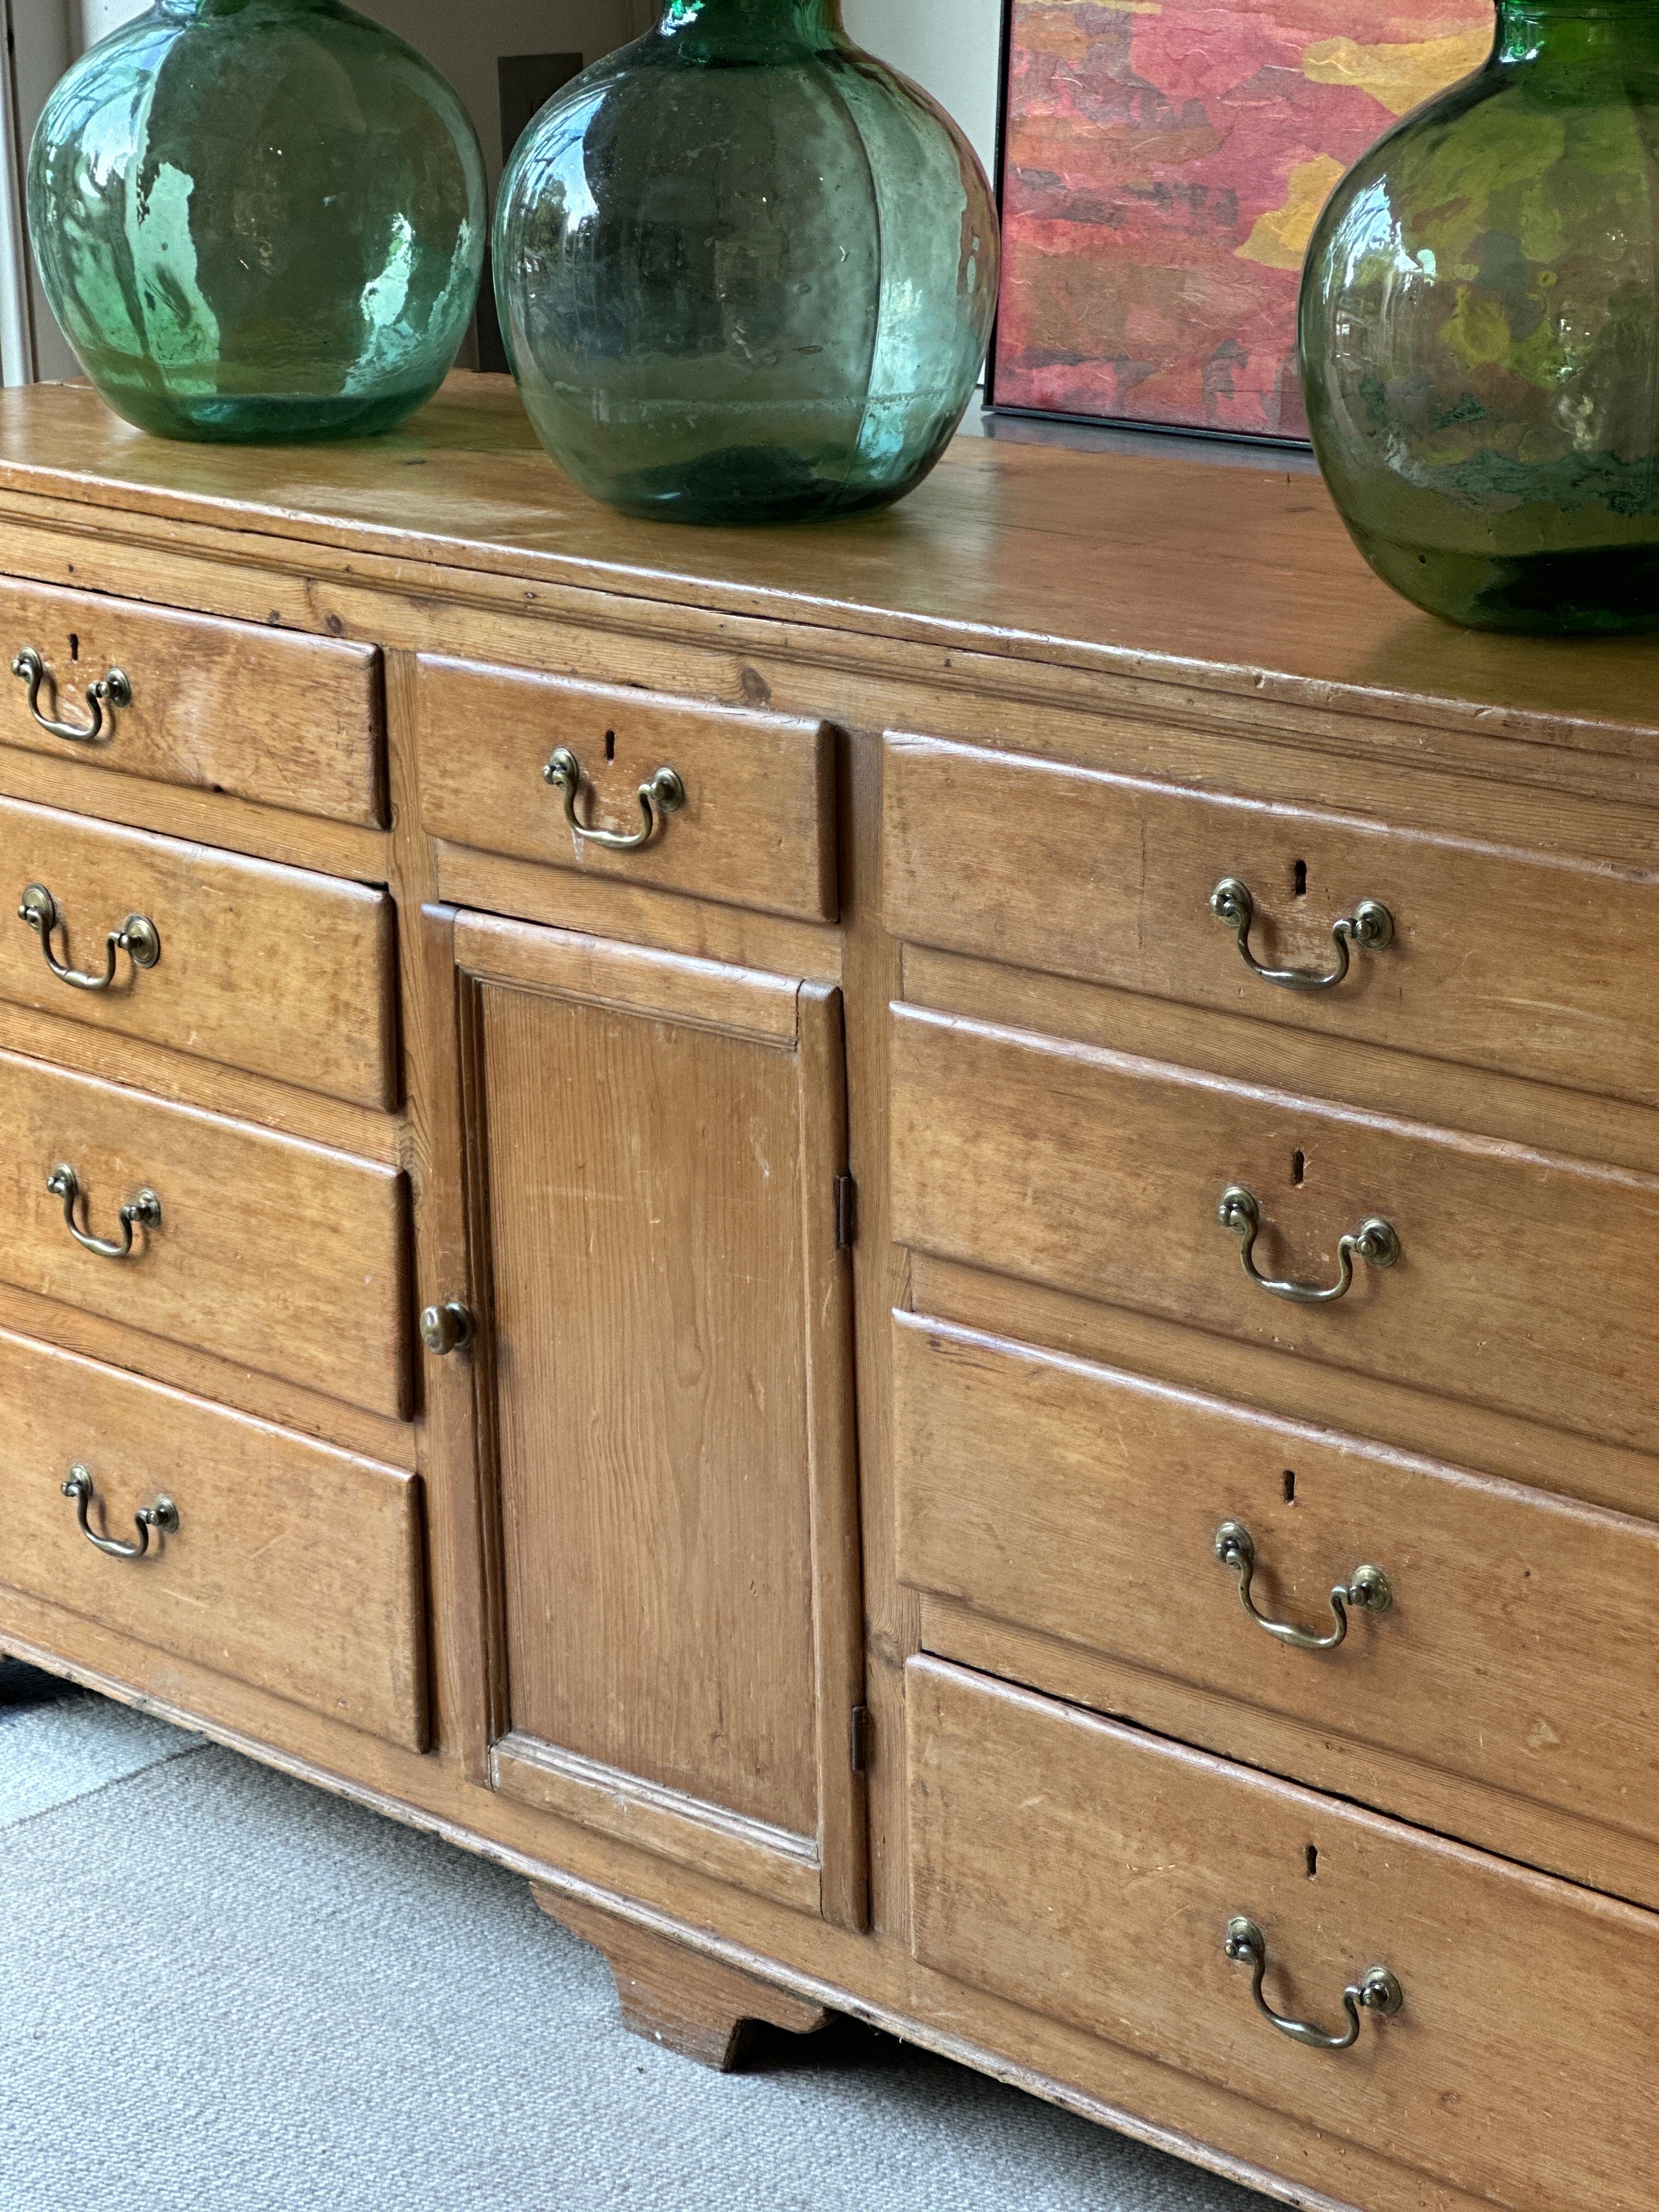
[[[1484,69],[1336,188],[1301,338],[1396,591],[1478,628],[1659,624],[1659,0],[1500,0]]]

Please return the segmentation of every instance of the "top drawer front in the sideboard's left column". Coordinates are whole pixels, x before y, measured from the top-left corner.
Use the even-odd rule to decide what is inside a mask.
[[[385,821],[374,646],[0,577],[0,661],[11,668],[24,646],[46,664],[40,706],[53,721],[91,726],[86,688],[111,668],[131,681],[133,703],[100,743],[75,745],[42,730],[27,686],[7,677],[4,745],[330,821]]]

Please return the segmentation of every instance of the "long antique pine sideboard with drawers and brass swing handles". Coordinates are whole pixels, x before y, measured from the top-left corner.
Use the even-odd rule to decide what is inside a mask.
[[[1650,2208],[1659,646],[1267,462],[0,422],[0,1646],[701,2057]]]

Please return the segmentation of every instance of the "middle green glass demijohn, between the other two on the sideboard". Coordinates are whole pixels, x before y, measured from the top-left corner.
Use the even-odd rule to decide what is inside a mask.
[[[542,442],[686,522],[911,491],[973,396],[998,259],[973,148],[841,0],[670,0],[542,108],[495,217]]]

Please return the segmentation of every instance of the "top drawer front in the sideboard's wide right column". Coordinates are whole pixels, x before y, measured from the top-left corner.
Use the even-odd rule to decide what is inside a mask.
[[[887,739],[885,814],[896,936],[1659,1102],[1655,876],[918,737]],[[1394,942],[1334,991],[1267,984],[1210,911],[1228,876],[1263,964],[1334,973],[1332,922],[1367,898]]]

